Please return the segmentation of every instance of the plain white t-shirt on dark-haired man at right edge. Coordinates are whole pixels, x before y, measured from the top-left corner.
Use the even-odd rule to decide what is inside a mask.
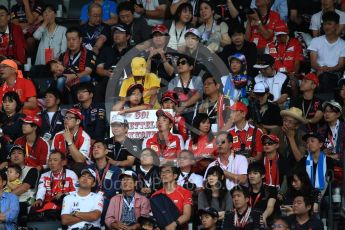
[[[338,38],[336,42],[329,43],[323,35],[313,38],[308,50],[317,52],[317,63],[320,66],[334,67],[340,57],[345,57],[345,41]]]

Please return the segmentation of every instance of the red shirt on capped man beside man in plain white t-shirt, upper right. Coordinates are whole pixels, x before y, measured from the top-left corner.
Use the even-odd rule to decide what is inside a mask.
[[[271,42],[267,45],[267,52],[276,60],[274,68],[280,72],[294,72],[295,62],[304,59],[302,45],[296,38],[289,38],[287,44]]]

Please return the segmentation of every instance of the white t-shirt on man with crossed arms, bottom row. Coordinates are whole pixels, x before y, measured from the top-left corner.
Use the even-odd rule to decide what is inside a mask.
[[[103,211],[103,196],[101,193],[91,192],[87,196],[79,196],[77,192],[72,192],[63,199],[63,214],[72,214],[72,212],[92,212],[95,210]],[[73,228],[82,228],[85,224],[92,224],[94,227],[101,227],[101,218],[93,222],[82,221],[68,226],[68,230]]]

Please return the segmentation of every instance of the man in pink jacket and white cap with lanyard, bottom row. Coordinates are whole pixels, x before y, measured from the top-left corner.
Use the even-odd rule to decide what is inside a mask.
[[[149,200],[135,192],[137,174],[124,171],[120,177],[122,194],[111,198],[105,224],[109,229],[139,229],[138,219],[151,211]]]

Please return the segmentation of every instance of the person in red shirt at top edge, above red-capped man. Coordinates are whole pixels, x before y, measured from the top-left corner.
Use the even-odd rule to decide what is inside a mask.
[[[275,27],[281,18],[270,9],[270,0],[257,0],[256,7],[246,11],[246,38],[256,44],[259,53],[263,53],[265,46],[272,42]]]

